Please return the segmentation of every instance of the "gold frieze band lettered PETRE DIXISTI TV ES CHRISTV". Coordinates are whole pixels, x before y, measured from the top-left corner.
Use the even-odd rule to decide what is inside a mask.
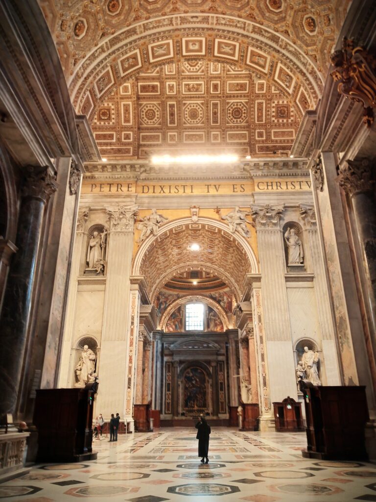
[[[83,181],[84,194],[139,195],[231,195],[265,191],[309,191],[309,178],[255,179],[243,183],[135,183],[134,181]]]

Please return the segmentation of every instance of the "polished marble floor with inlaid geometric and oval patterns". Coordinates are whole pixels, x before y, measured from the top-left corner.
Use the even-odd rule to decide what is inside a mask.
[[[197,457],[193,428],[123,435],[117,443],[103,436],[94,441],[96,461],[35,465],[0,484],[0,500],[376,501],[376,464],[304,459],[304,433],[212,431],[208,465]]]

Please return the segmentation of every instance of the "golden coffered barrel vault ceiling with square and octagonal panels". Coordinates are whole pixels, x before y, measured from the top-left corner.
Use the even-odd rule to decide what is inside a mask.
[[[103,157],[287,155],[348,1],[40,0]]]

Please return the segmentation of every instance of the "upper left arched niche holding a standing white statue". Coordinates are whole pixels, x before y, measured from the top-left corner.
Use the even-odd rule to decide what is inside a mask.
[[[105,275],[107,235],[107,227],[101,223],[95,223],[89,228],[85,249],[85,275]]]

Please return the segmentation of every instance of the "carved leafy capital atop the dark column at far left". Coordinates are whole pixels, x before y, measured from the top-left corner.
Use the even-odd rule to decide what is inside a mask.
[[[22,196],[40,199],[46,203],[58,189],[56,175],[51,174],[48,167],[28,166],[22,186]]]

